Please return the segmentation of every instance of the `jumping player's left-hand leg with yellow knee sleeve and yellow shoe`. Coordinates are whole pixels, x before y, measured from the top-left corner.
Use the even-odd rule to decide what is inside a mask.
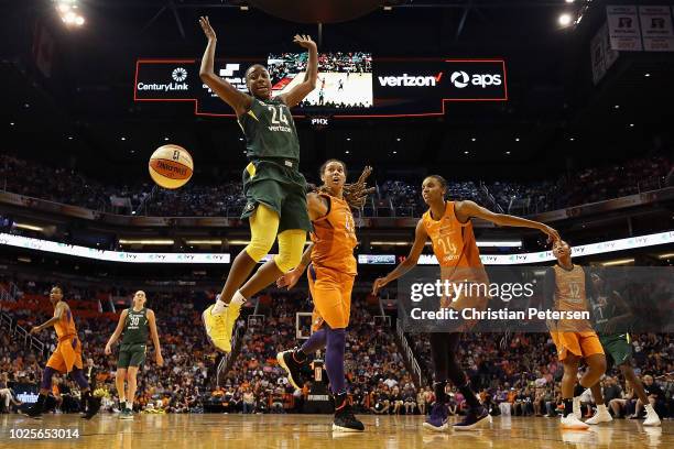
[[[202,314],[208,339],[225,352],[231,351],[233,324],[239,317],[241,306],[246,303],[237,288],[274,244],[279,229],[279,213],[260,202],[249,216],[249,222],[250,243],[237,255],[219,299]]]

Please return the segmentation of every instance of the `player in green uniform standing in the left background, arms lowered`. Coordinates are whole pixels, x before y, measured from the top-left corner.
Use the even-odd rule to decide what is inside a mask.
[[[159,366],[164,365],[154,311],[145,307],[145,292],[135,292],[133,307],[122,310],[117,328],[106,344],[106,355],[109,355],[112,352],[112,344],[123,332],[115,379],[117,393],[119,394],[119,406],[121,408],[119,417],[121,419],[133,419],[133,397],[138,386],[135,377],[141,363],[145,361],[148,333],[152,337],[156,364]],[[126,395],[124,381],[128,383]]]

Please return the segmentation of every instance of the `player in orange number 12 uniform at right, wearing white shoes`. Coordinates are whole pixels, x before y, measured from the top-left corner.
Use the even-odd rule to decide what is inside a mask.
[[[548,306],[559,311],[587,311],[589,315],[589,296],[593,282],[589,273],[581,266],[574,265],[570,256],[570,247],[563,240],[555,242],[553,254],[557,264],[550,269],[545,275],[544,297]],[[587,429],[574,413],[574,402],[579,408],[580,394],[585,388],[595,385],[606,372],[606,355],[599,337],[593,330],[589,320],[561,319],[548,321],[551,335],[557,354],[564,364],[562,377],[562,399],[564,401],[564,415],[562,427],[568,429]],[[588,369],[578,381],[578,364],[584,360]],[[578,381],[578,384],[576,382]],[[598,407],[606,406],[604,404]]]

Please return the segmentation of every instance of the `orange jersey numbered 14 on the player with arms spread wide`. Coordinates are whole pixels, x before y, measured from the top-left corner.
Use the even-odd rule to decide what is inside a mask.
[[[426,233],[433,243],[433,253],[442,267],[482,267],[470,220],[461,223],[454,213],[454,201],[445,202],[445,215],[438,220],[431,209],[422,217]]]

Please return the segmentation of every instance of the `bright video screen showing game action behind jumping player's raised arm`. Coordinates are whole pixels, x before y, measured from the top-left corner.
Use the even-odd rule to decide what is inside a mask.
[[[306,78],[307,53],[270,54],[267,67],[274,95],[290,91]],[[318,55],[316,89],[300,107],[371,108],[372,54],[365,52]]]

